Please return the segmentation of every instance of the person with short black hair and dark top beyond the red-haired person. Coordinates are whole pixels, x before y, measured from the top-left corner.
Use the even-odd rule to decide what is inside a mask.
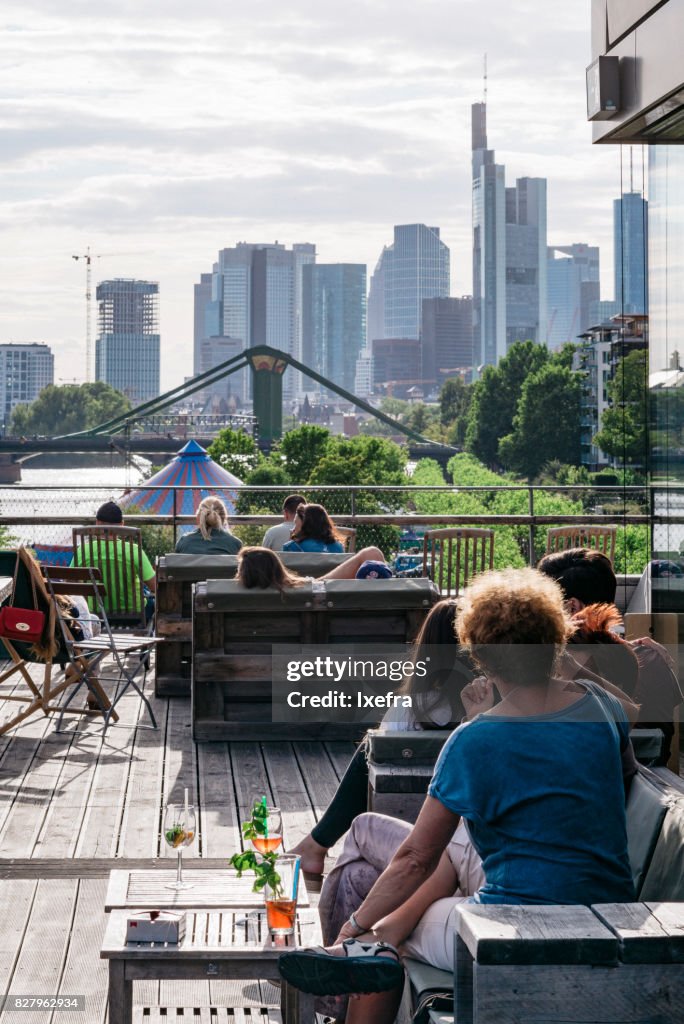
[[[610,560],[600,551],[591,548],[570,548],[545,555],[539,570],[556,580],[572,614],[592,604],[613,604],[617,578]],[[671,659],[651,637],[628,641],[639,664],[639,678],[631,696],[640,705],[637,724],[644,728],[660,729],[662,749],[657,764],[670,760],[675,735],[675,715],[682,702],[682,691]],[[622,689],[627,686],[621,684]]]

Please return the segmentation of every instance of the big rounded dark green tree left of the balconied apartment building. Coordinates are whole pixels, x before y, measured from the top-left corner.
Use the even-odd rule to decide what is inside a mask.
[[[566,367],[548,362],[529,374],[522,385],[513,430],[499,444],[502,465],[528,479],[553,459],[579,465],[581,400],[580,374]]]

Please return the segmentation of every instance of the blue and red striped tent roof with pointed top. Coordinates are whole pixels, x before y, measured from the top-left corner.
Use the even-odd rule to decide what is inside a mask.
[[[219,466],[197,441],[188,441],[168,466],[160,469],[134,490],[127,492],[119,504],[123,509],[135,506],[140,512],[157,515],[195,515],[203,498],[220,498],[228,514],[236,511],[238,492],[242,485],[232,473]],[[198,487],[188,490],[188,487]]]

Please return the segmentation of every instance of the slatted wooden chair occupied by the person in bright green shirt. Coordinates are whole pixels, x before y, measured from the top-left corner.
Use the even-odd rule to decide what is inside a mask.
[[[73,565],[97,566],[109,625],[114,630],[144,631],[145,594],[142,541],[136,526],[76,526]],[[95,610],[94,608],[92,610]]]

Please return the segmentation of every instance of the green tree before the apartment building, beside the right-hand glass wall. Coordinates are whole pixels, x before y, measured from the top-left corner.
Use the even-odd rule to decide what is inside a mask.
[[[647,452],[648,353],[630,352],[608,382],[609,409],[594,437],[606,455],[621,463],[644,463]]]

